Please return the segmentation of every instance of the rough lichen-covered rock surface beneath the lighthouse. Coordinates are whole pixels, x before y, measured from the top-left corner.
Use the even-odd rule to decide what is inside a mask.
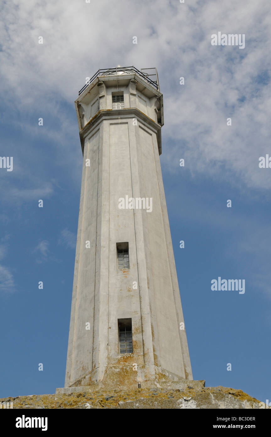
[[[179,408],[263,408],[260,401],[241,390],[225,387],[186,388],[167,390],[161,388],[138,388],[136,390],[78,392],[57,395],[28,395],[3,398],[1,402],[13,402],[14,409],[179,409]]]

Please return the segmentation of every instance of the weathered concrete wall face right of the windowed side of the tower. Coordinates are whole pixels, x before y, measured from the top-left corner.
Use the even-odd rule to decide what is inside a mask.
[[[136,132],[141,193],[153,199],[142,214],[155,364],[192,379],[156,135],[140,123]]]

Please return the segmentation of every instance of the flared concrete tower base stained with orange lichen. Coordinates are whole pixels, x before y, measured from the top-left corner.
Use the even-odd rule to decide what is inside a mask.
[[[129,390],[138,388],[139,384],[141,388],[158,387],[179,390],[205,387],[203,380],[185,379],[157,366],[154,366],[154,372],[153,366],[148,368],[146,365],[122,366],[121,368],[108,366],[102,380],[99,380],[100,372],[98,371],[99,369],[95,369],[69,387],[57,388],[56,393],[93,392],[100,389]]]

